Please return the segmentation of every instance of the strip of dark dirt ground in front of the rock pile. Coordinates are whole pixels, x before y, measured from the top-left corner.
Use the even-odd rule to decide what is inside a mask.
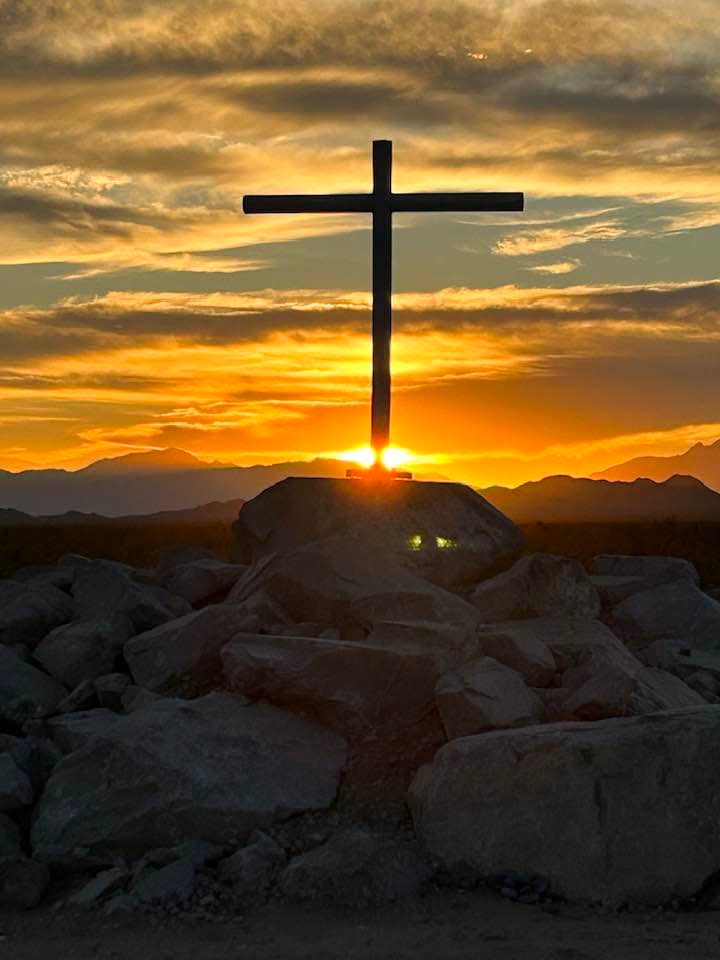
[[[606,913],[521,906],[486,891],[436,892],[382,910],[269,904],[190,925],[40,909],[0,913],[2,960],[704,960],[720,913]]]

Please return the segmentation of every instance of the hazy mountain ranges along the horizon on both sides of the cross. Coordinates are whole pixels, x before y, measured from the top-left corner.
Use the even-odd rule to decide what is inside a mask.
[[[676,457],[637,458],[593,478],[546,477],[479,492],[517,523],[720,522],[720,493],[711,484],[697,475],[665,476],[678,464],[702,468],[720,487],[718,441]],[[245,500],[285,477],[343,477],[346,468],[330,459],[238,467],[171,448],[98,460],[81,470],[0,470],[0,526],[107,518],[224,522],[237,516]]]

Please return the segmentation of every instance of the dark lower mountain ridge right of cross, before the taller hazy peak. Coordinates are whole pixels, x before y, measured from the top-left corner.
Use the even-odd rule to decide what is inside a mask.
[[[720,493],[687,476],[660,483],[546,477],[480,492],[516,523],[720,521]]]

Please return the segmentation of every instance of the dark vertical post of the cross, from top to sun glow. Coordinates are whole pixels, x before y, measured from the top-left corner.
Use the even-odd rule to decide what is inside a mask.
[[[373,141],[373,372],[370,443],[376,456],[390,443],[392,337],[392,143]]]

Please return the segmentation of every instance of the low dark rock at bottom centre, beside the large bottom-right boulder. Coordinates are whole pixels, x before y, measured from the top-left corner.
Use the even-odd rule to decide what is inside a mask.
[[[378,906],[419,893],[429,872],[414,844],[353,828],[291,860],[279,890],[288,900]]]

